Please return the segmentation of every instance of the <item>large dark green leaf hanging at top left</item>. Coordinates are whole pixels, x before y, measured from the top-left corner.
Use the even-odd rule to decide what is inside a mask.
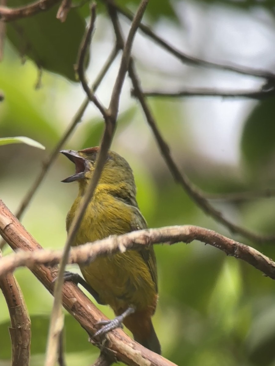
[[[29,1],[11,0],[17,7]],[[85,31],[85,20],[71,9],[64,23],[56,19],[58,6],[29,18],[7,23],[7,36],[19,55],[27,55],[38,67],[75,81],[73,65]]]

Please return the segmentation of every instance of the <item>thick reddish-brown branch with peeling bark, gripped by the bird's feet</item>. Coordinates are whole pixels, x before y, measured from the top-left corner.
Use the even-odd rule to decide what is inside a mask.
[[[3,236],[13,250],[22,249],[27,252],[42,250],[41,246],[1,200],[0,235]],[[52,294],[54,287],[52,280],[55,277],[57,268],[34,265],[31,270]],[[63,287],[63,306],[87,331],[89,336],[92,336],[98,330],[97,322],[106,319],[104,314],[72,282],[66,282]],[[147,348],[132,340],[122,329],[116,329],[108,333],[106,335],[106,345],[114,358],[129,366],[175,366],[174,363],[147,350]],[[98,348],[102,347],[98,343],[95,343],[95,346]]]

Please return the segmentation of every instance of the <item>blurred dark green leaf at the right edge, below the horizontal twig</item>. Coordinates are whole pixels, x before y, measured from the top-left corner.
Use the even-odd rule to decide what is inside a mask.
[[[256,105],[243,128],[241,149],[246,163],[256,174],[275,152],[275,99]]]

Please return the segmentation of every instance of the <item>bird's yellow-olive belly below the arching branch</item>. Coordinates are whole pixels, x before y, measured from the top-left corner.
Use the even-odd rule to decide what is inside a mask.
[[[84,279],[114,311],[134,305],[155,308],[157,294],[146,263],[137,251],[96,258],[80,266]]]

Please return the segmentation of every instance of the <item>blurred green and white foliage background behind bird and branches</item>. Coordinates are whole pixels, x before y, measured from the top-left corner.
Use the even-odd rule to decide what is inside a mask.
[[[135,10],[137,1],[121,3]],[[99,5],[87,69],[90,81],[96,78],[114,42],[104,7]],[[64,24],[55,20],[56,11],[53,8],[38,18],[7,26],[8,39],[0,65],[0,88],[5,96],[0,103],[0,137],[24,135],[46,147],[43,151],[27,145],[0,146],[0,197],[13,212],[84,99],[80,85],[72,80],[88,5],[70,12],[71,19],[68,17]],[[192,56],[275,71],[272,1],[151,0],[144,22]],[[126,33],[129,25],[124,18],[121,23]],[[22,53],[26,54],[23,66],[19,56]],[[252,90],[264,84],[264,80],[252,76],[182,64],[141,33],[135,39],[133,56],[146,90],[173,91],[188,86]],[[34,88],[36,64],[47,69],[38,90]],[[118,66],[119,57],[99,87],[97,95],[105,105]],[[148,225],[199,225],[275,258],[274,243],[259,246],[232,235],[206,216],[173,181],[139,105],[130,97],[130,89],[126,79],[112,149],[133,168],[137,199]],[[274,98],[150,98],[148,102],[177,164],[206,193],[274,188]],[[65,148],[79,150],[99,145],[103,127],[98,111],[89,105]],[[77,194],[77,184],[64,185],[60,180],[71,175],[73,169],[60,155],[23,216],[23,225],[44,248],[62,248],[65,242],[65,217]],[[275,232],[274,198],[212,203],[238,225],[263,234]],[[180,366],[275,365],[274,281],[202,243],[155,246],[155,251],[159,303],[154,325],[166,358]],[[4,255],[10,252],[4,249]],[[77,267],[71,269],[77,271]],[[43,365],[52,297],[29,270],[18,269],[15,276],[32,319],[31,365]],[[0,308],[3,366],[9,365],[10,358],[9,315],[3,296]],[[108,307],[99,308],[113,317]],[[66,315],[67,364],[91,364],[98,353],[80,325]]]

